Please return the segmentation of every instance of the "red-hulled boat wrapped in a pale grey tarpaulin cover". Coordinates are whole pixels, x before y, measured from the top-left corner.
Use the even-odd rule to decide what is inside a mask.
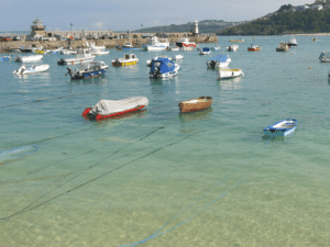
[[[82,116],[89,120],[103,120],[141,110],[147,104],[148,100],[145,97],[132,97],[123,100],[99,100],[96,105],[85,109]]]

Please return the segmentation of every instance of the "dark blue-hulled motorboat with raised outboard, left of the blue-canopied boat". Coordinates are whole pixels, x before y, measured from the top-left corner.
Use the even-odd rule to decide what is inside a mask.
[[[69,67],[67,67],[67,74],[72,79],[88,79],[103,75],[108,68],[109,66],[106,65],[105,61],[90,61],[87,68],[80,70],[76,69],[73,71]]]

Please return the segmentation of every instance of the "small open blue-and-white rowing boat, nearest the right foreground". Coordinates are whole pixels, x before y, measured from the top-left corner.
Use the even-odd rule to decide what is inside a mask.
[[[297,126],[297,120],[283,120],[264,128],[264,134],[270,136],[286,136],[292,134]]]

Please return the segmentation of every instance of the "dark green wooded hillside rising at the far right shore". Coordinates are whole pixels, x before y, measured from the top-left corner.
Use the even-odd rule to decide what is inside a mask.
[[[283,12],[284,5],[271,16],[256,21],[219,30],[218,35],[280,35],[295,33],[326,33],[330,32],[330,9],[298,12]]]

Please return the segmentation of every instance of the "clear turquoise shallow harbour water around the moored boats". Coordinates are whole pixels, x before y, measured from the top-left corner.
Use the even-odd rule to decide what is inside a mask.
[[[290,36],[256,37],[258,53],[244,38],[229,55],[245,77],[228,81],[206,68],[219,52],[183,53],[179,76],[163,81],[145,66],[158,53],[82,81],[64,76],[59,55],[26,77],[1,61],[0,246],[328,246],[330,85],[318,57],[330,37],[298,36],[288,53],[275,48]],[[99,99],[135,96],[145,111],[81,117]],[[212,106],[179,115],[199,96]],[[287,117],[294,135],[263,137]]]

